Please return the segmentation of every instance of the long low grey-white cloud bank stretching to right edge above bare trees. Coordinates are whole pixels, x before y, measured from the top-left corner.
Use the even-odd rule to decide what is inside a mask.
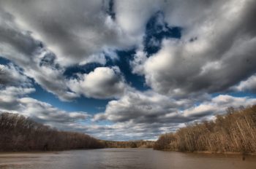
[[[206,99],[200,103],[200,106],[194,106],[196,101],[198,100],[175,100],[150,90],[144,93],[129,92],[117,101],[110,101],[105,112],[96,114],[94,120],[107,119],[112,122],[134,122],[135,124],[184,123],[225,111],[229,106],[252,105],[256,100],[219,95]]]

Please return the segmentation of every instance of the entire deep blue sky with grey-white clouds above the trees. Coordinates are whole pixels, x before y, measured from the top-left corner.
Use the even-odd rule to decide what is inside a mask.
[[[0,113],[113,141],[256,104],[255,0],[0,0]]]

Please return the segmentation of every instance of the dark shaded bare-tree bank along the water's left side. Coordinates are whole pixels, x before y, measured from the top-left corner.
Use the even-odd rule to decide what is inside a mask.
[[[97,149],[104,145],[83,133],[59,131],[18,114],[0,114],[0,151]]]

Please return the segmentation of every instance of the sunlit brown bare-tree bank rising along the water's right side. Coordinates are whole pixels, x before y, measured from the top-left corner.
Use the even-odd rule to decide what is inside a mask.
[[[189,152],[256,152],[256,105],[227,109],[214,121],[180,128],[159,136],[154,149]]]

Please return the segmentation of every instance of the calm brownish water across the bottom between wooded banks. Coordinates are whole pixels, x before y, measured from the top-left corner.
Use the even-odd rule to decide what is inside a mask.
[[[153,149],[94,149],[47,153],[1,153],[0,168],[255,169],[256,157],[161,152]]]

